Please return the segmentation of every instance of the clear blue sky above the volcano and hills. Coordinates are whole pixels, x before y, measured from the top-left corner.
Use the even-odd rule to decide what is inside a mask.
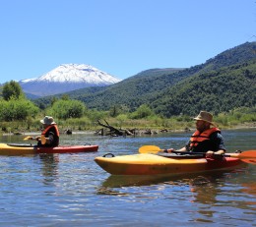
[[[0,0],[0,83],[89,64],[126,79],[256,41],[255,0]]]

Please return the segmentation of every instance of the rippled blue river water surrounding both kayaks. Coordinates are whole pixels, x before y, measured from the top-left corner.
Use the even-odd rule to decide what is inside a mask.
[[[256,129],[223,135],[229,152],[256,149]],[[0,226],[256,226],[256,165],[156,178],[110,176],[94,162],[145,144],[179,148],[189,136],[63,135],[62,144],[98,144],[98,152],[0,156]]]

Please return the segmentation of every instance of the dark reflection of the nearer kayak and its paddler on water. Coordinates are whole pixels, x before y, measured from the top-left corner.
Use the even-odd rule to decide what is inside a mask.
[[[225,181],[234,174],[243,174],[246,167],[235,170],[215,171],[202,174],[185,174],[177,176],[114,176],[110,175],[97,189],[98,195],[129,196],[129,187],[163,186],[158,191],[166,191],[168,187],[185,187],[191,196],[191,203],[215,204],[217,196],[222,193]],[[124,191],[126,193],[124,193]],[[172,192],[173,193],[173,192]],[[205,210],[202,210],[205,213]],[[211,212],[207,215],[212,215]]]

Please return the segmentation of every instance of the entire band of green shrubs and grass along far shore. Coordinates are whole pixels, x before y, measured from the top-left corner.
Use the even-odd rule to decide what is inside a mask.
[[[248,102],[249,103],[249,102]],[[248,105],[244,103],[244,105]],[[251,106],[251,105],[249,105]],[[11,81],[2,88],[0,98],[0,134],[39,133],[39,122],[45,115],[52,116],[60,133],[98,132],[102,127],[136,134],[160,132],[182,132],[195,129],[193,116],[200,110],[193,109],[191,116],[166,117],[156,114],[147,104],[131,111],[127,106],[113,106],[109,110],[89,109],[84,102],[72,100],[68,95],[53,98],[48,106],[37,106],[27,99],[21,86]],[[256,106],[239,107],[228,112],[213,113],[214,122],[220,129],[251,128],[256,125]],[[109,127],[108,127],[109,126]],[[115,130],[117,129],[117,130]],[[122,135],[122,134],[121,134]],[[134,135],[132,133],[131,135]]]

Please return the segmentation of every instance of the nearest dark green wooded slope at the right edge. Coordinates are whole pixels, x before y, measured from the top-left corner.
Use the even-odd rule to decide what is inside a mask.
[[[156,113],[195,115],[199,110],[227,112],[256,104],[256,60],[196,75],[160,92],[150,103]]]

